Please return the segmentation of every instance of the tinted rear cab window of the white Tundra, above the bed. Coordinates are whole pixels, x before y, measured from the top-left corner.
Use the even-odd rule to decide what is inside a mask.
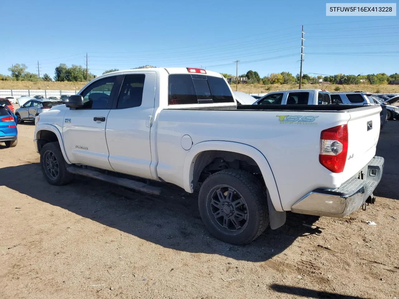
[[[200,74],[169,75],[169,105],[213,103],[235,103],[223,78]]]

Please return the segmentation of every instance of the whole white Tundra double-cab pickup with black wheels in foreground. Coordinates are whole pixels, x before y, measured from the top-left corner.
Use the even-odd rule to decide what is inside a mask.
[[[153,181],[199,189],[209,231],[246,244],[284,224],[286,211],[344,217],[372,203],[384,162],[375,156],[380,111],[237,106],[219,73],[134,69],[41,113],[34,142],[52,185],[79,174],[154,194]]]

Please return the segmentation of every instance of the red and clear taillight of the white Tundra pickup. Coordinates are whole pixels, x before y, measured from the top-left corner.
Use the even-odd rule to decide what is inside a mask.
[[[344,124],[323,130],[320,134],[321,165],[328,170],[340,173],[344,171],[348,153],[348,125]]]

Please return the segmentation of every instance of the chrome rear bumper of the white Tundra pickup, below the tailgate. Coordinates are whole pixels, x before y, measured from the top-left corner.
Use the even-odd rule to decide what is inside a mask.
[[[345,217],[361,207],[377,187],[384,168],[384,158],[374,156],[358,175],[336,189],[316,189],[292,207],[300,214]]]

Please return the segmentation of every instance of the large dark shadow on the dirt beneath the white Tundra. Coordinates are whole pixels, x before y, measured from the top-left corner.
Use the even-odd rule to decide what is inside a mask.
[[[286,225],[266,230],[249,245],[235,246],[213,238],[199,216],[196,195],[174,185],[166,186],[166,196],[146,195],[85,177],[57,187],[45,181],[39,163],[2,168],[0,177],[1,185],[34,199],[166,248],[186,252],[259,262],[279,254],[305,233],[322,233],[318,228],[302,225],[311,225],[317,216],[288,213]]]

